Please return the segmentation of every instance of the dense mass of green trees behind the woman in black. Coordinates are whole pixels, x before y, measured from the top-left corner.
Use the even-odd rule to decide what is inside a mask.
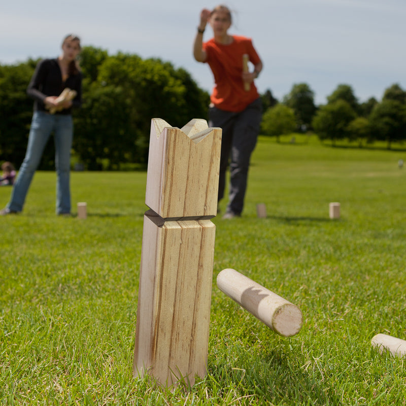
[[[19,166],[24,159],[33,100],[26,88],[38,60],[0,65],[0,161]],[[82,108],[74,112],[73,157],[87,170],[120,170],[145,164],[151,119],[182,127],[206,118],[209,94],[184,69],[158,58],[117,53],[91,46],[80,56]],[[40,168],[54,168],[48,143]]]

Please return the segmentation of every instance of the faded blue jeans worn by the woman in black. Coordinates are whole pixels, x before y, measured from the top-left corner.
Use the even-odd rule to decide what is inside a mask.
[[[44,148],[54,131],[56,166],[56,213],[71,212],[71,147],[73,139],[73,120],[71,115],[49,114],[36,111],[32,116],[27,151],[18,172],[11,199],[7,208],[21,212],[24,206],[32,177],[40,164]]]

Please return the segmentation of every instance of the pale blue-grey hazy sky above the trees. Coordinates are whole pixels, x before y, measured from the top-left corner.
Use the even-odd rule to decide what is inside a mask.
[[[256,80],[282,100],[307,83],[315,103],[339,84],[362,103],[380,100],[394,83],[406,89],[406,0],[219,0],[233,13],[229,33],[253,40],[263,62]],[[211,91],[207,64],[196,62],[192,43],[202,8],[194,0],[14,0],[0,13],[0,64],[56,57],[74,32],[82,46],[158,57],[183,67]],[[212,37],[208,26],[204,40]]]

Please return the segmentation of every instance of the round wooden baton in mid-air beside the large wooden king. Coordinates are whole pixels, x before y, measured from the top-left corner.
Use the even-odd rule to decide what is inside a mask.
[[[276,333],[289,337],[300,331],[303,319],[298,307],[235,269],[223,269],[217,286]]]

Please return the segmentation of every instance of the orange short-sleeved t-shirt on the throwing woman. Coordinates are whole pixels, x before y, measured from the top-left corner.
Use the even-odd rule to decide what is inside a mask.
[[[221,110],[240,112],[259,97],[254,82],[249,91],[244,89],[243,55],[255,65],[261,60],[249,38],[232,36],[232,43],[223,45],[214,38],[203,44],[210,69],[214,75],[215,87],[210,100]]]

